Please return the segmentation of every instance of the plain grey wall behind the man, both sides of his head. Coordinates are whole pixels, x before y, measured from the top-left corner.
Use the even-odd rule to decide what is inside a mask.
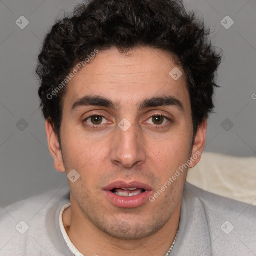
[[[54,169],[48,151],[34,71],[46,32],[56,17],[71,12],[78,2],[81,1],[0,0],[2,207],[66,183],[65,174]],[[209,118],[205,150],[255,155],[256,1],[186,0],[186,3],[204,17],[212,30],[213,44],[223,49],[218,73],[218,84],[222,87],[215,94],[216,113]],[[29,22],[24,28],[27,21],[20,16]]]

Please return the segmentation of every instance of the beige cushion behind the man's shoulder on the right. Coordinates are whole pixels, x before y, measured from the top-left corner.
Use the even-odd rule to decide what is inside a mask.
[[[206,191],[256,205],[256,157],[203,152],[186,180]]]

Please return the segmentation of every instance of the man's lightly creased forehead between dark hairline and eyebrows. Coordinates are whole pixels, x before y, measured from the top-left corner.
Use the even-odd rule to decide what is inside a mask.
[[[175,80],[175,73],[180,75],[181,72],[183,74]],[[71,105],[85,95],[101,95],[120,106],[133,106],[144,98],[165,94],[190,105],[182,67],[173,62],[169,53],[147,47],[127,54],[119,53],[116,48],[99,51],[66,89],[64,105]]]

